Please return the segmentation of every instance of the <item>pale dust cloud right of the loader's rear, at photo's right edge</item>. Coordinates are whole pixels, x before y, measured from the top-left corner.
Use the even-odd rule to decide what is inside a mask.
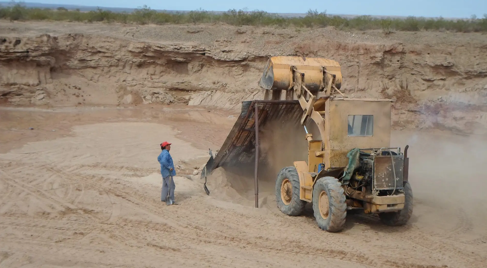
[[[415,226],[486,236],[485,137],[394,131],[391,143],[402,148],[409,145],[409,182],[414,194],[411,222]]]

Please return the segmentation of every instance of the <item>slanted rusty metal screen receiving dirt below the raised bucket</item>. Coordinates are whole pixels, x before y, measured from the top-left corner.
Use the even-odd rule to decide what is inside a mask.
[[[255,161],[255,106],[259,111],[259,129],[277,118],[282,118],[283,122],[296,122],[296,127],[301,125],[303,109],[298,100],[253,100],[235,121],[215,158],[208,161],[205,174],[211,174],[219,167]],[[259,160],[266,157],[264,153],[259,154]],[[203,173],[201,176],[203,178]]]

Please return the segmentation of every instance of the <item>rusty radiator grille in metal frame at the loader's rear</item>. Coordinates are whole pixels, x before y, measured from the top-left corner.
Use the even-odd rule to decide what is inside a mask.
[[[394,169],[396,170],[396,189],[403,188],[404,156],[392,156]],[[374,163],[374,189],[394,189],[394,175],[392,172],[391,156],[376,156]]]

